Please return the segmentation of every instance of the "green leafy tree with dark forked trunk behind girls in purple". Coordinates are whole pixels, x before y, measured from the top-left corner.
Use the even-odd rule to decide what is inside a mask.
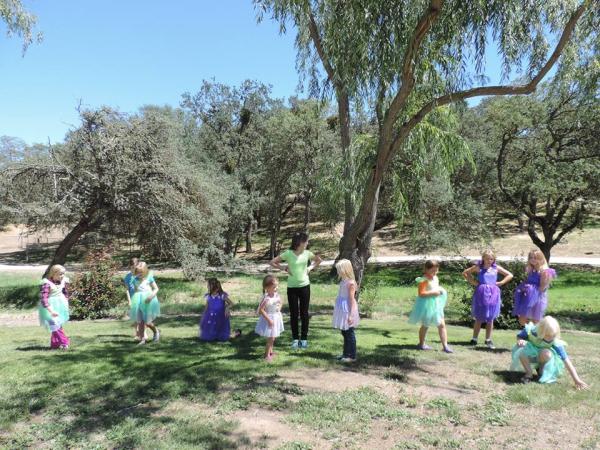
[[[497,130],[489,139],[497,148],[499,189],[550,260],[600,197],[600,101],[546,88],[532,98],[489,102],[480,120]]]

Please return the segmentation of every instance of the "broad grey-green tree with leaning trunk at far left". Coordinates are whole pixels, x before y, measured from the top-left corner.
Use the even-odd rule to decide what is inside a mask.
[[[146,251],[178,261],[218,253],[223,191],[181,154],[181,127],[169,114],[103,108],[81,118],[45,157],[0,171],[0,209],[13,221],[69,227],[50,265],[63,264],[81,237],[97,231],[133,234]]]

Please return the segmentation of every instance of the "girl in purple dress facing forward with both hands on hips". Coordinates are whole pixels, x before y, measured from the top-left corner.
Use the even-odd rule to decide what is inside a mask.
[[[477,278],[474,277],[475,274]],[[502,281],[498,281],[498,274],[503,276]],[[485,323],[485,345],[489,349],[494,349],[492,330],[494,320],[500,315],[502,306],[500,287],[512,280],[513,274],[496,264],[494,252],[485,250],[481,254],[481,261],[465,270],[463,277],[469,284],[475,286],[471,302],[471,314],[475,319],[471,344],[477,345],[481,325]]]

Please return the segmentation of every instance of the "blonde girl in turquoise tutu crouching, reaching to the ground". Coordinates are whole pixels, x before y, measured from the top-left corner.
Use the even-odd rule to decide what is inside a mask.
[[[564,372],[565,367],[575,382],[575,387],[587,389],[588,385],[579,378],[571,363],[565,346],[560,339],[560,326],[552,316],[546,316],[537,325],[529,322],[517,334],[517,345],[512,351],[511,370],[524,370],[523,383],[533,380],[532,368],[537,369],[540,383],[554,383]]]

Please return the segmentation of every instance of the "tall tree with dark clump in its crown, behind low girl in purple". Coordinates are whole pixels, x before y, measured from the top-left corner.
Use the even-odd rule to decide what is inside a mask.
[[[183,95],[181,106],[195,125],[189,156],[201,164],[214,164],[217,173],[239,185],[227,203],[225,252],[235,255],[242,234],[246,251],[251,252],[261,203],[258,179],[264,170],[260,149],[266,122],[282,102],[271,98],[269,86],[256,81],[246,80],[239,87],[204,81],[196,94]]]

